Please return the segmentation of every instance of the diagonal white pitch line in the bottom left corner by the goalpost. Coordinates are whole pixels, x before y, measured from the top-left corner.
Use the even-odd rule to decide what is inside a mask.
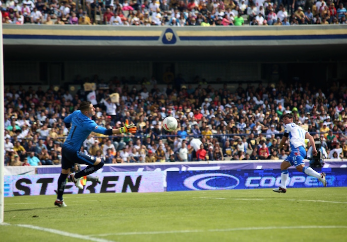
[[[52,234],[57,234],[57,235],[62,235],[70,238],[75,238],[75,239],[80,239],[80,240],[86,240],[86,241],[93,241],[93,242],[114,242],[114,241],[109,241],[105,239],[99,239],[99,238],[94,238],[91,236],[85,236],[85,235],[79,235],[75,233],[69,233],[69,232],[64,232],[61,230],[55,230],[55,229],[48,229],[48,228],[43,228],[39,226],[33,226],[30,224],[8,224],[8,223],[0,223],[0,225],[6,225],[6,226],[17,226],[17,227],[23,227],[23,228],[28,228],[28,229],[33,229],[33,230],[39,230],[43,232],[48,232]]]

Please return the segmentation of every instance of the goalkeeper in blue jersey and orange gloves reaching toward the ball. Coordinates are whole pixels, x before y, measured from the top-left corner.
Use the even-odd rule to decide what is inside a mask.
[[[128,120],[125,121],[125,126],[119,129],[106,129],[98,126],[91,119],[94,115],[95,107],[93,104],[90,101],[83,101],[80,103],[79,110],[74,111],[64,118],[65,126],[66,128],[70,128],[70,131],[61,150],[61,174],[58,179],[58,196],[54,202],[56,206],[66,207],[62,194],[64,193],[66,178],[75,163],[88,165],[84,170],[70,175],[71,180],[79,189],[83,189],[80,181],[81,177],[94,173],[104,165],[101,158],[80,152],[82,143],[91,132],[104,135],[124,134],[127,132],[136,133],[136,126],[129,124]]]

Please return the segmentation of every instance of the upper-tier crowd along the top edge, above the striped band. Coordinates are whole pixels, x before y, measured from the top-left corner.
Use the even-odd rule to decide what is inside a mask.
[[[0,0],[3,23],[48,25],[346,24],[345,6],[346,0]]]

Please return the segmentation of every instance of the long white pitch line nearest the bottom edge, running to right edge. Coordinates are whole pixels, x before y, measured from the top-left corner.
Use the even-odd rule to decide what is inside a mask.
[[[271,227],[245,227],[245,228],[230,228],[230,229],[211,229],[211,230],[173,230],[173,231],[147,231],[147,232],[123,232],[98,234],[93,236],[120,236],[120,235],[156,235],[156,234],[183,234],[183,233],[209,233],[209,232],[231,232],[231,231],[252,231],[252,230],[288,230],[288,229],[347,229],[347,226],[271,226]]]

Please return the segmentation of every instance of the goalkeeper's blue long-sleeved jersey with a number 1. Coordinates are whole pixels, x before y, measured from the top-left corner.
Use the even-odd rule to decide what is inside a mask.
[[[64,118],[64,123],[70,123],[71,129],[63,144],[63,148],[71,151],[79,151],[82,143],[92,131],[105,135],[107,130],[98,126],[94,120],[82,114],[80,110],[76,110]]]

